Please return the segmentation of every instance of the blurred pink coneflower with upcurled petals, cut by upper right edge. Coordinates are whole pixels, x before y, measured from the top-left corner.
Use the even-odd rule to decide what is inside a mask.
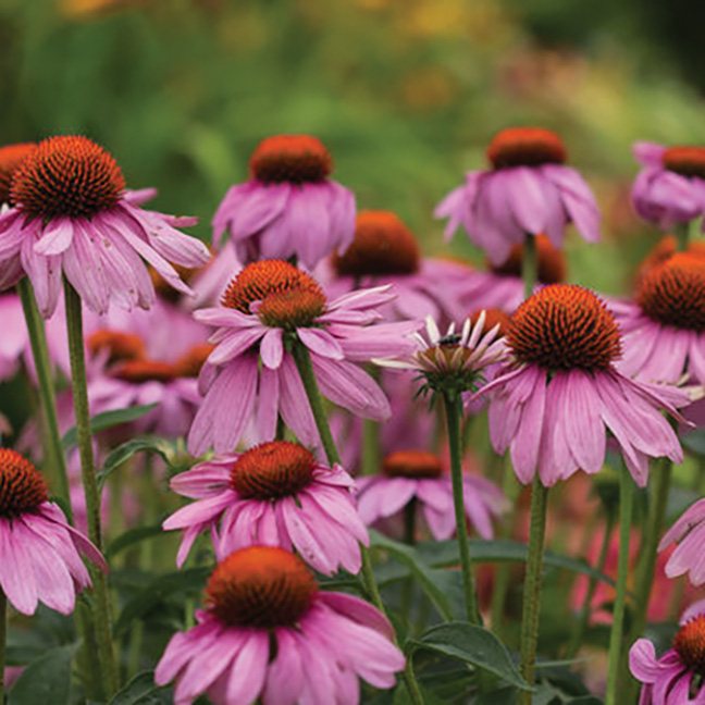
[[[634,210],[664,230],[687,223],[705,212],[705,147],[664,147],[636,143],[643,166],[634,180]]]

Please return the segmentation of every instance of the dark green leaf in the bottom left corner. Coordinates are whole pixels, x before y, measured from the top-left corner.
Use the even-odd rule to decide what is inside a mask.
[[[27,666],[8,694],[8,705],[66,705],[71,696],[71,661],[77,644],[45,652]]]

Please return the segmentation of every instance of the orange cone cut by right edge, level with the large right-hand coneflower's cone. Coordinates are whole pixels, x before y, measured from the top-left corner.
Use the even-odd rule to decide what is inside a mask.
[[[642,279],[636,302],[664,325],[705,331],[705,258],[678,252]]]

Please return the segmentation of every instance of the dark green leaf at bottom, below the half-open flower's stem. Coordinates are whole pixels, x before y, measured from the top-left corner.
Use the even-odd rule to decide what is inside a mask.
[[[521,690],[532,690],[521,678],[505,645],[490,631],[466,622],[449,622],[429,629],[418,640],[407,642],[407,651],[429,648],[459,658],[498,676]]]

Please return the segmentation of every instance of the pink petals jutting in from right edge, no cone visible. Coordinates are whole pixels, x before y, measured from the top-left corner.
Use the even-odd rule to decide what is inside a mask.
[[[658,551],[664,551],[678,543],[666,564],[666,574],[677,578],[688,573],[693,585],[705,583],[704,540],[705,499],[698,499],[680,516],[658,544]]]

